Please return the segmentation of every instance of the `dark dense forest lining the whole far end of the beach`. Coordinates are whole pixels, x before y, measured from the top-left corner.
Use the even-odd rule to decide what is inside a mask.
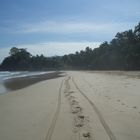
[[[67,47],[67,46],[66,46]],[[117,33],[109,43],[98,48],[64,56],[31,55],[24,48],[13,47],[0,65],[1,70],[140,70],[140,23],[134,30]]]

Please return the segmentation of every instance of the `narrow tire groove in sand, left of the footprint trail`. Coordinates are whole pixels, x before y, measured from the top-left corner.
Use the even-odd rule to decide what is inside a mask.
[[[53,132],[54,132],[54,128],[55,128],[57,118],[58,118],[60,108],[61,108],[61,92],[62,92],[63,81],[61,82],[61,85],[59,87],[59,94],[58,94],[58,100],[57,100],[58,102],[57,102],[56,112],[55,112],[54,117],[52,119],[52,122],[50,124],[49,130],[48,130],[47,135],[45,137],[45,140],[51,140]]]

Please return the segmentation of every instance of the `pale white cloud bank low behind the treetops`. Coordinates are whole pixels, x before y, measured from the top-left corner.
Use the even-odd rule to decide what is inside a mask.
[[[90,48],[99,47],[100,42],[44,42],[35,44],[20,44],[15,45],[18,48],[27,48],[31,54],[43,54],[44,56],[62,56],[64,54],[75,53],[76,51],[84,50],[87,46]],[[10,48],[0,48],[0,62],[8,56]]]

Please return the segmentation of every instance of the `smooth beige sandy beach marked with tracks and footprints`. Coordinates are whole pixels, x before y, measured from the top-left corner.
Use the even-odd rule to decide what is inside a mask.
[[[139,72],[65,73],[0,95],[0,140],[140,140]]]

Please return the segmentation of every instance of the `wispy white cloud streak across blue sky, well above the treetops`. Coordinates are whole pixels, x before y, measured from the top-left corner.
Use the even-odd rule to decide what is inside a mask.
[[[16,33],[116,33],[125,28],[133,27],[135,23],[96,23],[96,22],[60,22],[42,21],[38,23],[28,23],[16,27]]]

